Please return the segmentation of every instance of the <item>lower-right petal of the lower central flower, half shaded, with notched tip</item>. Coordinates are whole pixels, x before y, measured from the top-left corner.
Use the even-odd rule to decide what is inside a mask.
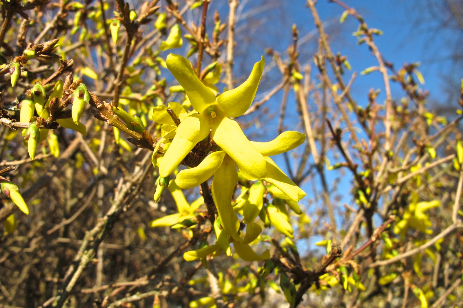
[[[299,201],[300,195],[306,195],[299,186],[294,184],[294,182],[278,168],[270,157],[265,157],[265,160],[267,161],[267,176],[264,178],[265,181],[275,185],[294,202]]]

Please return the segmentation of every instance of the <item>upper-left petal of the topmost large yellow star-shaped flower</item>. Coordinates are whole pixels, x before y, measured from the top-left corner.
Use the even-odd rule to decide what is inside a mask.
[[[170,54],[166,63],[172,75],[185,89],[194,110],[203,113],[209,105],[215,103],[215,95],[199,80],[187,59]]]

